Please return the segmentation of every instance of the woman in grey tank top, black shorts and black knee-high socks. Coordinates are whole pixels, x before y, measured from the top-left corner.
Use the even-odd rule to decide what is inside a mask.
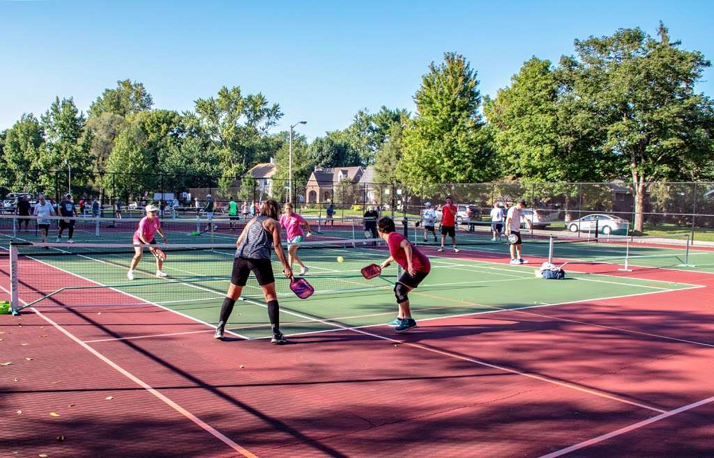
[[[236,245],[236,257],[233,259],[233,273],[231,274],[231,286],[228,286],[226,298],[221,306],[221,316],[218,318],[218,326],[214,338],[223,340],[223,332],[231,316],[233,306],[238,297],[241,296],[243,286],[246,286],[248,275],[251,271],[256,276],[258,284],[263,288],[263,296],[268,303],[268,318],[270,318],[273,338],[271,343],[287,343],[283,333],[280,332],[280,310],[278,308],[278,296],[275,292],[275,277],[273,276],[273,266],[271,265],[270,251],[274,247],[275,254],[283,264],[283,274],[286,278],[293,278],[293,271],[290,269],[288,260],[283,253],[283,245],[280,239],[280,206],[274,200],[268,200],[261,207],[258,216],[251,219],[243,228],[241,236],[238,237]]]

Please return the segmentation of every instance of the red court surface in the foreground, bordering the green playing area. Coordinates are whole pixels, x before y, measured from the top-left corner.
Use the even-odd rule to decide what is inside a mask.
[[[281,347],[149,305],[0,316],[0,455],[711,457],[714,276],[676,276],[703,288]]]

